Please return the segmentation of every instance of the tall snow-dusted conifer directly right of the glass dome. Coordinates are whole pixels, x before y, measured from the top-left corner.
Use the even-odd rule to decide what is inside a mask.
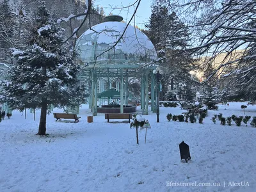
[[[192,87],[196,84],[196,79],[189,74],[195,68],[195,63],[191,52],[187,52],[189,47],[188,27],[180,21],[175,12],[170,12],[168,6],[156,3],[152,7],[152,15],[149,24],[146,25],[148,31],[145,33],[156,47],[158,56],[166,57],[161,63],[164,68],[163,93],[166,93],[168,85],[173,83],[187,84],[186,89],[192,92]]]

